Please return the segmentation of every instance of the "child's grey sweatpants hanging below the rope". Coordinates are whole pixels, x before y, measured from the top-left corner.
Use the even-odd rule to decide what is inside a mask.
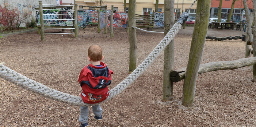
[[[101,104],[92,106],[92,109],[93,109],[94,115],[96,115],[96,116],[102,115],[103,110],[101,109]],[[79,116],[78,121],[81,123],[87,123],[88,118],[89,118],[88,115],[89,115],[88,106],[86,106],[86,107],[81,106],[80,107],[80,116]]]

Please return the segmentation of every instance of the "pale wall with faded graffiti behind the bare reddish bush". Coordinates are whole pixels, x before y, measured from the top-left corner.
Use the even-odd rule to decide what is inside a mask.
[[[41,0],[43,4],[56,4],[56,0]],[[25,22],[30,22],[30,20],[35,20],[36,10],[39,7],[38,0],[0,0],[0,6],[4,8],[6,5],[9,9],[17,10],[17,15],[20,17],[27,16]],[[1,11],[1,10],[0,10]],[[25,26],[22,23],[21,26]]]

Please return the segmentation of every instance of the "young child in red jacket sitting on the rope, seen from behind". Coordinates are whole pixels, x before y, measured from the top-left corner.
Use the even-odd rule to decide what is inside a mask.
[[[81,97],[83,102],[94,104],[104,101],[109,96],[108,85],[111,83],[113,72],[101,62],[103,60],[102,49],[98,45],[91,45],[88,49],[88,60],[90,64],[85,66],[80,72],[78,82],[82,87]],[[92,106],[94,118],[102,120],[101,105]],[[88,107],[80,107],[79,122],[80,127],[88,127]]]

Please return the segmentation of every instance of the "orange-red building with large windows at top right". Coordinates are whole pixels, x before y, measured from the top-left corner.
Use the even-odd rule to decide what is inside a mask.
[[[249,9],[252,11],[253,9],[253,0],[247,0],[247,5]],[[222,10],[221,10],[221,18],[222,19],[227,19],[227,16],[230,13],[231,10],[231,5],[232,5],[233,0],[222,0]],[[218,7],[220,4],[220,0],[212,0],[211,3],[211,13],[210,17],[217,17],[218,16]],[[234,6],[234,11],[232,14],[231,20],[234,21],[242,21],[243,20],[243,0],[237,0],[235,2]],[[244,17],[245,18],[245,17]]]

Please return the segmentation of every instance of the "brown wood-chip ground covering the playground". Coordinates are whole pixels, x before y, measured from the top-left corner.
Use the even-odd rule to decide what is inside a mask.
[[[53,89],[79,96],[78,75],[88,65],[87,49],[100,45],[104,60],[113,70],[109,89],[128,76],[129,40],[125,29],[109,33],[97,29],[79,30],[74,35],[45,35],[36,32],[15,34],[0,39],[0,62]],[[155,31],[163,31],[155,29]],[[58,30],[49,31],[59,32]],[[68,31],[65,31],[68,32]],[[175,37],[174,69],[186,67],[193,27],[181,29]],[[137,65],[162,40],[161,34],[137,31]],[[208,30],[216,37],[242,35],[237,30]],[[245,42],[211,41],[204,45],[201,64],[230,61],[245,56]],[[251,55],[252,56],[252,55]],[[174,83],[173,101],[162,102],[163,52],[135,83],[112,100],[101,104],[103,121],[91,127],[255,127],[256,85],[252,66],[198,75],[194,105],[181,105],[183,81]],[[1,127],[78,127],[79,107],[44,98],[0,79]]]

